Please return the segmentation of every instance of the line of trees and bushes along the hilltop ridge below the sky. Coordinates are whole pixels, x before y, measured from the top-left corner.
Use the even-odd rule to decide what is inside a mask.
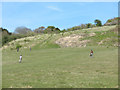
[[[52,33],[57,34],[57,33],[64,33],[69,31],[102,26],[102,23],[100,20],[96,19],[94,22],[95,24],[91,24],[91,23],[81,24],[79,26],[74,26],[72,28],[63,29],[63,30],[60,30],[58,27],[54,27],[54,26],[48,26],[47,28],[45,28],[44,26],[41,26],[35,30],[31,30],[27,27],[22,26],[22,27],[17,27],[14,33],[10,33],[8,32],[7,29],[0,28],[0,31],[2,31],[2,45],[5,45],[6,43],[12,40],[16,40],[16,39],[28,37],[28,36],[35,36],[36,34],[52,34]]]

